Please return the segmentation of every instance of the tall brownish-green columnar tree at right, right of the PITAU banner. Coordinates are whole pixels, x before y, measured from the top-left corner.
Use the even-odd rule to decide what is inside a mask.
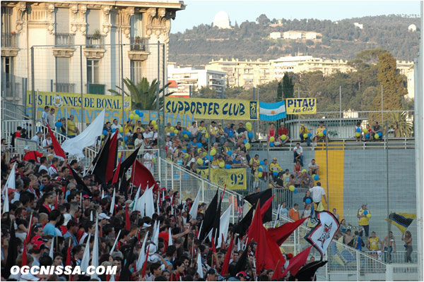
[[[377,78],[383,87],[383,109],[391,111],[402,109],[402,101],[408,91],[402,83],[403,78],[396,70],[396,59],[389,52],[378,56]],[[380,87],[379,90],[381,90]],[[372,104],[375,110],[380,110],[381,96],[377,95]]]

